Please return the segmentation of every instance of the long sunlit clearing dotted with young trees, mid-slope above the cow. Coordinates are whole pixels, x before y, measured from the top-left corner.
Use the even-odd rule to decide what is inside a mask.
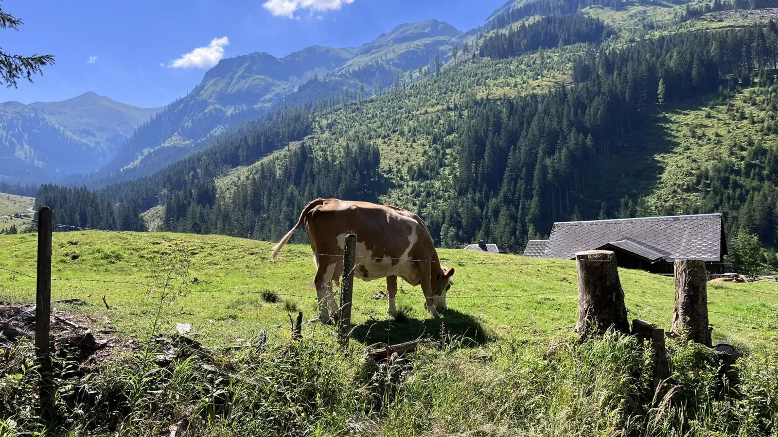
[[[401,91],[400,96],[390,89],[370,97],[362,105],[352,103],[345,109],[338,107],[321,114],[316,121],[315,135],[307,141],[326,148],[352,144],[355,135],[370,138],[370,142],[380,149],[382,171],[392,186],[382,201],[417,209],[422,205],[415,205],[415,190],[440,182],[408,181],[408,166],[422,163],[431,147],[431,138],[414,132],[415,126],[431,124],[438,131],[445,131],[450,118],[457,114],[454,105],[465,99],[498,99],[544,93],[550,87],[569,82],[568,72],[573,58],[582,50],[582,45],[575,45],[519,58],[458,61],[457,65],[444,68],[440,78],[416,80]],[[471,54],[468,54],[470,57]],[[454,135],[456,133],[449,138]],[[275,152],[266,159],[283,153]],[[217,180],[217,186],[229,196],[230,190],[253,173],[258,164],[233,170]]]

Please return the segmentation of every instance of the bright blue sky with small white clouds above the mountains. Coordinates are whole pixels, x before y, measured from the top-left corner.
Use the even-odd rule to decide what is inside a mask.
[[[186,95],[222,58],[310,45],[355,47],[402,23],[440,19],[465,31],[505,0],[0,0],[23,20],[0,29],[10,54],[55,65],[0,102],[54,102],[92,91],[137,107]]]

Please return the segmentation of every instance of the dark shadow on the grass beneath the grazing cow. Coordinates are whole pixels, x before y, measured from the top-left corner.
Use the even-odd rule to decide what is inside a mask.
[[[368,320],[354,327],[352,338],[363,344],[398,344],[422,337],[433,341],[460,341],[464,347],[475,347],[493,340],[481,323],[469,314],[447,309],[440,315],[439,319],[400,316],[397,319]]]

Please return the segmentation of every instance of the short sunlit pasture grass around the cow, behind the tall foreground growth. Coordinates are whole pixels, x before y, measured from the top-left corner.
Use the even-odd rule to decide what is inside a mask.
[[[207,244],[149,236],[197,239]],[[35,234],[0,236],[4,248],[0,252],[0,267],[32,274],[35,241]],[[55,278],[159,283],[170,274],[176,287],[181,278],[190,282],[196,277],[201,282],[186,285],[179,295],[142,285],[54,281],[53,299],[80,298],[90,303],[54,306],[93,313],[96,327],[117,327],[125,334],[147,332],[161,308],[163,329],[175,327],[178,322],[192,323],[192,330],[206,344],[239,342],[263,327],[270,337],[286,336],[289,310],[299,308],[306,319],[315,314],[316,292],[311,284],[314,266],[310,247],[289,246],[274,263],[268,260],[271,246],[224,236],[58,232],[54,234],[52,258]],[[442,323],[449,333],[478,335],[482,340],[512,338],[545,344],[552,337],[571,334],[577,308],[572,261],[463,250],[440,250],[440,256],[452,260],[444,264],[457,268],[449,294],[450,309],[442,320],[428,318],[420,289],[407,284],[398,293],[398,304],[405,308],[408,320],[391,320],[386,315],[386,300],[369,300],[376,292],[385,290],[384,281],[359,281],[355,286],[354,296],[359,300],[354,303],[353,320],[376,323],[358,327],[355,337],[368,344],[406,341],[422,334],[436,336]],[[474,261],[518,265],[466,264]],[[671,278],[622,271],[622,285],[630,319],[650,320],[669,327],[673,305]],[[268,303],[259,294],[264,291],[293,296]],[[32,302],[34,295],[33,278],[0,271],[0,301]],[[103,306],[103,295],[110,309]],[[716,327],[714,341],[755,347],[778,339],[778,285],[715,285],[709,288],[709,299],[710,320]],[[314,336],[332,332],[331,327],[318,323],[305,330]]]

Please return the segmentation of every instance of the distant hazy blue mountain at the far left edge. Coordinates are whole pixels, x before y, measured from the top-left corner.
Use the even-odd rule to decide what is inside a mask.
[[[62,102],[0,103],[0,179],[55,179],[99,169],[161,108],[86,93]]]

